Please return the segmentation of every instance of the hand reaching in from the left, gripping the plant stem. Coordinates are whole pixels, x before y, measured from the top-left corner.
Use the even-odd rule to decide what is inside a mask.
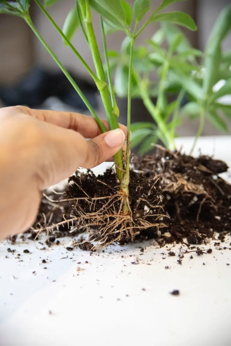
[[[0,238],[33,225],[44,189],[79,166],[92,168],[113,157],[125,136],[123,125],[102,134],[93,118],[78,113],[1,108]]]

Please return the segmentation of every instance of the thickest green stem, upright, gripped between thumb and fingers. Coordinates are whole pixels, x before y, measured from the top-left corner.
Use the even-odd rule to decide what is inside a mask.
[[[84,11],[85,11],[84,6],[85,5],[86,5],[86,16],[84,16]],[[86,29],[86,33],[87,33],[87,37],[88,37],[88,41],[89,41],[89,46],[90,46],[90,50],[91,50],[91,54],[92,54],[92,58],[93,58],[93,62],[95,65],[97,76],[101,81],[106,82],[103,63],[102,63],[101,56],[99,53],[99,48],[98,48],[94,28],[92,26],[89,1],[86,0],[85,3],[80,2],[80,9],[82,12],[82,16],[84,18],[83,20],[85,23],[85,29]],[[107,84],[106,84],[105,88],[103,88],[102,90],[99,90],[99,91],[100,91],[100,96],[101,96],[101,99],[102,99],[102,102],[104,105],[104,109],[105,109],[105,112],[107,115],[110,129],[111,130],[117,129],[119,127],[118,117],[113,113],[112,103],[110,100],[110,93],[109,93],[109,89],[108,89]],[[114,161],[115,161],[115,166],[116,166],[117,177],[118,177],[119,181],[122,181],[123,176],[124,176],[124,163],[123,163],[123,151],[122,151],[122,149],[117,154],[115,154]]]

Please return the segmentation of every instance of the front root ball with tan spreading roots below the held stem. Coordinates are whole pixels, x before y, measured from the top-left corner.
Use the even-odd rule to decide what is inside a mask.
[[[158,179],[147,180],[133,171],[130,174],[127,214],[123,213],[125,197],[112,170],[99,176],[88,171],[70,177],[63,200],[72,206],[66,224],[88,231],[89,241],[96,242],[97,247],[132,242],[145,229],[157,234],[166,219]]]

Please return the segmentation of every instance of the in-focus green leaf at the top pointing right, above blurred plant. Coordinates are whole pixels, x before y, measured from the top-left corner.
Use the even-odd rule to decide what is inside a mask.
[[[159,15],[154,15],[149,18],[148,22],[156,22],[156,21],[165,21],[174,23],[177,25],[184,26],[190,30],[195,31],[197,29],[197,26],[193,20],[192,17],[190,17],[187,13],[181,12],[181,11],[173,11],[173,12],[165,12],[160,13]]]

